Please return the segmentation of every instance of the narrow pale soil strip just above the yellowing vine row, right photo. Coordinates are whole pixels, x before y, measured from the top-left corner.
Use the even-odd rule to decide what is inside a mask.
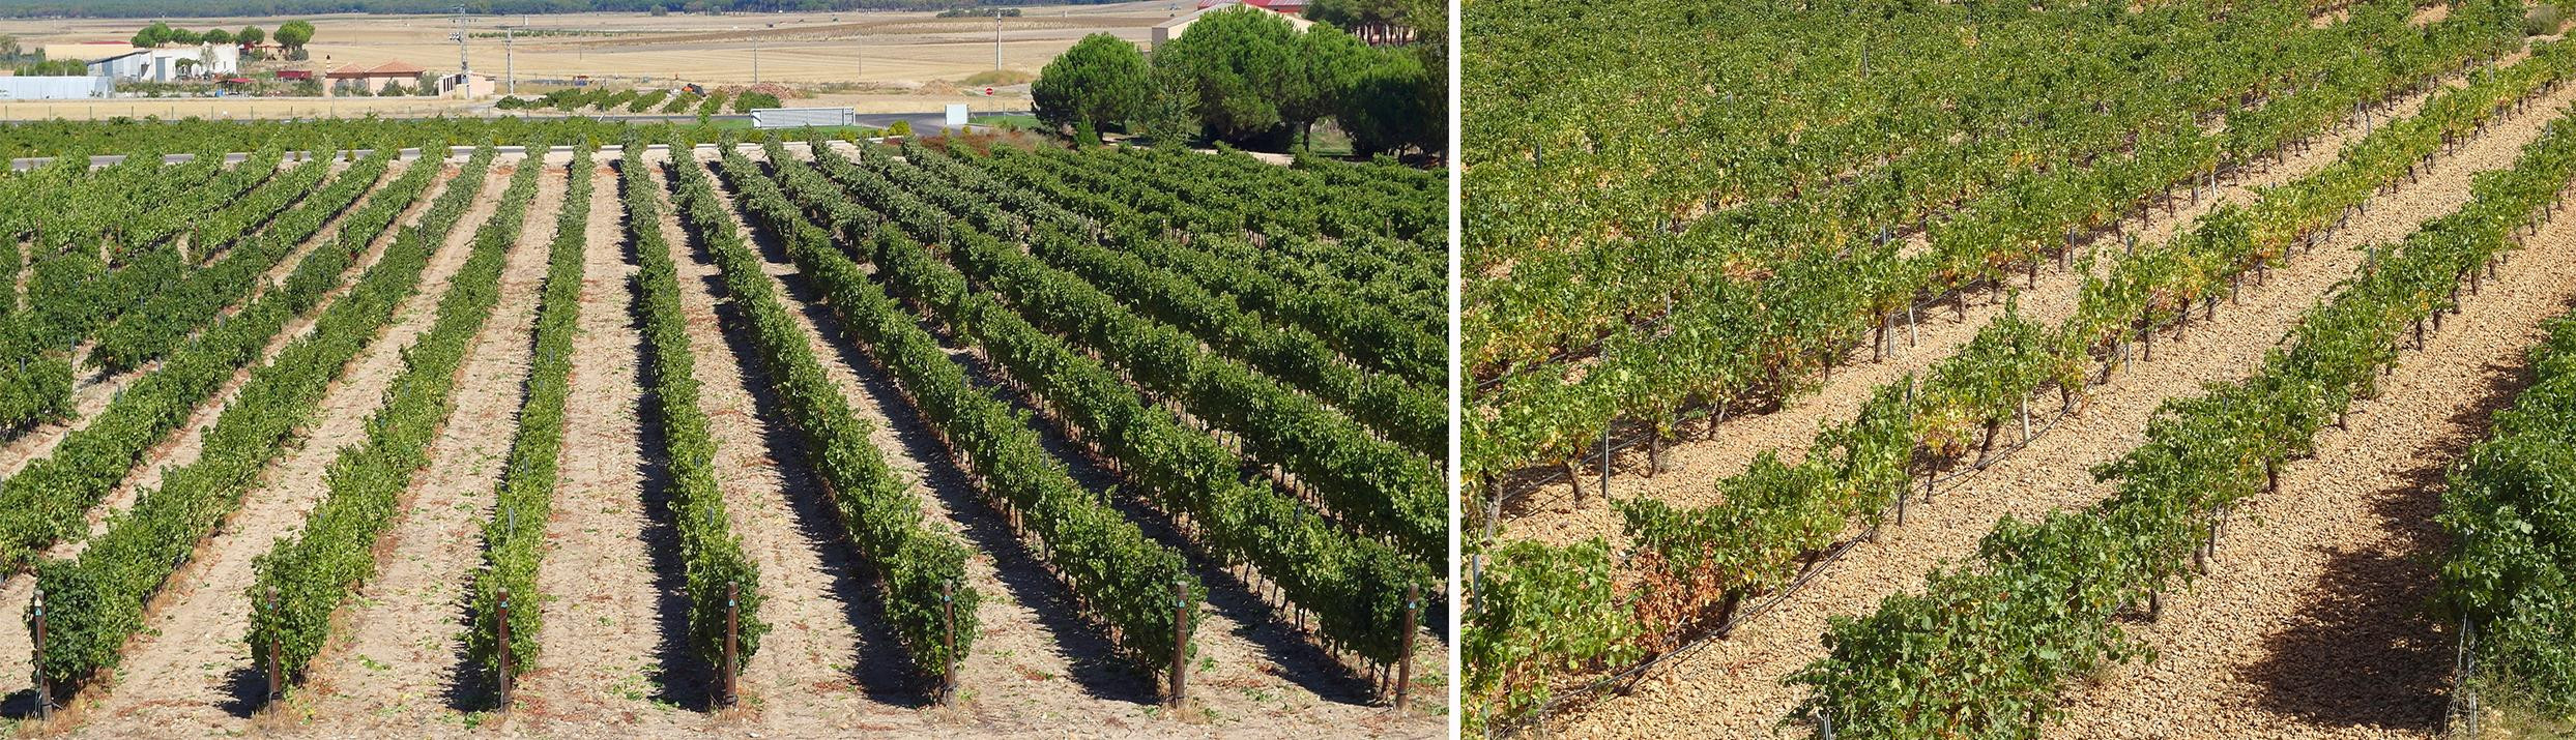
[[[2501,64],[2514,64],[2522,57],[2527,52],[2514,52]],[[2463,83],[2465,77],[2455,75],[2437,90]],[[2398,95],[2375,116],[2378,121],[2414,116],[2437,90]],[[2218,193],[2205,193],[2197,204],[2190,199],[2187,186],[2177,188],[2172,211],[2161,206],[2143,209],[2123,222],[2123,232],[2136,232],[2141,245],[2169,240],[2221,204],[2251,204],[2259,196],[2254,188],[2290,183],[2331,165],[2334,155],[2344,144],[2362,139],[2362,121],[2352,119],[2347,126],[2336,126],[2308,139],[2306,147],[2285,152],[2280,162],[2267,160],[2233,178],[2223,178]],[[2087,250],[2120,250],[2120,235],[2099,235],[2079,245],[2076,255]],[[2107,268],[2110,260],[2099,263],[2097,271]],[[2022,317],[2056,325],[2074,315],[2084,278],[2084,271],[2061,271],[2056,263],[2043,263],[2035,286],[2014,278],[2004,289],[1976,291],[1965,299],[1965,312],[1955,312],[1950,304],[1929,307],[1917,315],[1919,325],[1911,333],[1896,333],[1904,340],[1896,343],[1891,356],[1875,358],[1870,348],[1857,348],[1844,356],[1847,366],[1837,369],[1816,392],[1793,397],[1775,413],[1739,413],[1721,423],[1713,438],[1703,436],[1705,423],[1690,423],[1685,441],[1664,446],[1664,469],[1654,477],[1646,477],[1649,456],[1643,446],[1620,451],[1613,464],[1610,487],[1620,498],[1649,495],[1672,503],[1713,503],[1716,487],[1710,482],[1744,472],[1754,454],[1777,451],[1785,462],[1798,462],[1806,456],[1808,443],[1816,441],[1821,425],[1857,418],[1860,405],[1870,400],[1870,389],[1891,384],[1904,374],[1922,374],[1958,353],[1978,330],[2004,315],[2007,294],[2020,297]],[[1618,536],[1618,516],[1597,492],[1600,472],[1592,469],[1582,485],[1582,503],[1574,503],[1564,482],[1533,490],[1528,503],[1504,513],[1510,518],[1504,536],[1558,544],[1595,534]]]

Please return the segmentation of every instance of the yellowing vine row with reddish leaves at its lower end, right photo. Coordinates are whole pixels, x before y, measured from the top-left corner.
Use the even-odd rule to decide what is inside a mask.
[[[2004,312],[1922,379],[1870,392],[1860,418],[1826,425],[1801,464],[1765,454],[1718,482],[1721,503],[1672,508],[1651,498],[1615,508],[1633,554],[1605,541],[1502,544],[1466,619],[1468,688],[1515,717],[1548,699],[1553,665],[1628,665],[1654,647],[1723,624],[1752,596],[1783,588],[1852,523],[1875,526],[1922,474],[1984,464],[2002,431],[2032,415],[2032,397],[2058,392],[2071,410],[2094,379],[2164,327],[2215,309],[2233,284],[2313,248],[2352,209],[2409,178],[2445,144],[2494,116],[2555,90],[2576,72],[2576,49],[2545,44],[2530,59],[2442,93],[2401,121],[2349,144],[2336,162],[2257,204],[2223,206],[2164,245],[2112,255],[2081,286],[2063,325]],[[2259,227],[2257,227],[2259,224]],[[2025,425],[2027,428],[2027,425]],[[1618,585],[1613,585],[1618,583]]]

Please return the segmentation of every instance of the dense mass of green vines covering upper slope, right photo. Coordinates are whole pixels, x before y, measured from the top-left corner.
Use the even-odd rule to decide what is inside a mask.
[[[1888,64],[1906,64],[1896,62],[1906,54],[1968,59],[1880,67],[1891,83],[1862,83],[1862,111],[1834,113],[1834,124],[1816,121],[1824,129],[1801,129],[1798,144],[1767,131],[1788,131],[1775,126],[1806,113],[1770,106],[1710,111],[1728,121],[1708,126],[1752,126],[1741,139],[1716,142],[1672,142],[1631,126],[1646,121],[1615,113],[1605,113],[1613,116],[1607,131],[1582,131],[1592,142],[1569,142],[1577,131],[1540,137],[1535,129],[1556,124],[1502,113],[1497,121],[1512,124],[1497,126],[1535,129],[1468,150],[1471,160],[1484,152],[1481,160],[1494,165],[1468,168],[1463,204],[1468,286],[1461,340],[1463,369],[1476,379],[1461,436],[1466,485],[1481,490],[1517,469],[1574,459],[1618,420],[1669,431],[1685,407],[1808,392],[1873,330],[1904,320],[1909,304],[2035,271],[2074,237],[2107,232],[2128,211],[2169,204],[2177,188],[2282,152],[2354,106],[2424,90],[2439,75],[2506,52],[2522,34],[2512,23],[2517,10],[2504,5],[2473,3],[2429,28],[2411,26],[2414,3],[2396,0],[2357,3],[2344,23],[2324,28],[2308,28],[2306,3],[2241,3],[2226,13],[2164,5],[2110,18],[2014,8],[1968,26],[1958,26],[1958,5],[1868,21],[1832,10],[1728,10],[1765,15],[1747,21],[1765,28],[1798,18],[1803,26],[1780,28],[1793,39],[1832,28],[1852,34],[1821,36],[1816,44],[1824,46],[1798,52],[1826,54],[1819,64],[1857,62],[1842,57],[1862,52],[1852,46],[1857,39],[1875,39],[1868,49],[1888,54],[1880,57]],[[1984,41],[1971,52],[1955,44],[1880,49],[1911,41],[1899,41],[1904,34],[1891,39],[1891,23],[1947,28],[1940,36],[1973,28]],[[2069,54],[2066,44],[2117,52]],[[1731,54],[1721,49],[1728,46],[1690,54]],[[1914,77],[1919,70],[1937,70],[1940,80]],[[2009,88],[2025,75],[2050,75],[2038,85],[2087,93],[2027,95]],[[1793,85],[1785,95],[1850,88]],[[1584,88],[1569,95],[1574,90]],[[1932,90],[1955,90],[1996,111],[1953,116],[1942,113],[1945,106],[1906,103],[1940,101],[1942,93]],[[1664,93],[1710,101],[1708,93]],[[1767,113],[1790,119],[1754,124]],[[2202,126],[2213,119],[2223,119],[2226,129]],[[1935,144],[1950,137],[1965,144]],[[1672,147],[1718,152],[1708,152],[1713,165],[1695,168],[1628,162],[1638,152],[1662,152],[1659,162],[1700,162]],[[1533,162],[1533,150],[1546,152],[1546,165]],[[1610,160],[1623,168],[1592,168]],[[1862,173],[1844,178],[1850,170]],[[1713,173],[1723,178],[1708,180]],[[1571,188],[1584,196],[1561,204],[1569,186],[1543,183],[1577,183]],[[1667,188],[1682,183],[1687,188]],[[1741,191],[1741,199],[1705,196],[1728,191]],[[1927,248],[1901,240],[1914,229]],[[2197,294],[2205,286],[2182,289]],[[1571,358],[1597,364],[1569,379]]]

